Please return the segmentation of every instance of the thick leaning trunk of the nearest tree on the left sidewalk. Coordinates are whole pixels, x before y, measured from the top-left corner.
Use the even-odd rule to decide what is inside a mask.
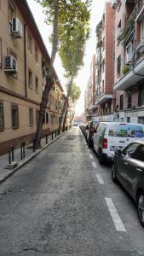
[[[41,147],[41,136],[42,136],[42,127],[43,127],[43,116],[45,114],[45,109],[47,108],[47,104],[49,101],[49,91],[52,89],[53,85],[55,84],[54,80],[54,61],[55,55],[58,48],[58,18],[59,18],[59,0],[55,0],[55,17],[54,17],[54,28],[53,28],[53,45],[52,45],[52,52],[51,58],[49,63],[49,70],[46,75],[46,84],[43,90],[42,101],[40,104],[38,121],[37,121],[37,131],[33,141],[33,148],[40,148]]]

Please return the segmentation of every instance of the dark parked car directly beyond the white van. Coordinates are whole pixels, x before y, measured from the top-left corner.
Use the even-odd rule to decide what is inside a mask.
[[[99,121],[91,120],[88,122],[87,126],[87,132],[86,132],[86,141],[89,145],[89,148],[93,148],[93,135],[94,135],[94,130],[96,129],[97,125],[99,125]]]

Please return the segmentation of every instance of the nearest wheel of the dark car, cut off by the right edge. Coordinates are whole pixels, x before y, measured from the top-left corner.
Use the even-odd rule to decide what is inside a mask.
[[[137,211],[141,225],[144,227],[144,192],[141,192],[140,195],[138,195]]]

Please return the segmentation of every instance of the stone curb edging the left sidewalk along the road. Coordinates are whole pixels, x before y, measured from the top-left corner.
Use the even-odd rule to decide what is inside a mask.
[[[67,130],[68,131],[68,130]],[[43,146],[43,148],[41,149],[37,149],[36,153],[33,153],[30,157],[28,157],[26,160],[24,160],[22,163],[20,163],[19,166],[15,167],[14,170],[12,170],[11,172],[9,172],[9,174],[7,174],[5,177],[0,179],[0,184],[3,183],[8,177],[10,177],[11,175],[14,174],[14,172],[18,171],[22,166],[25,166],[30,160],[32,160],[35,156],[37,156],[37,154],[40,154],[45,148],[48,148],[49,145],[51,145],[52,143],[55,143],[56,140],[58,140],[61,136],[63,136],[67,131],[64,131],[62,134],[60,134],[58,137],[55,137],[54,140],[52,140],[50,143],[46,144]]]

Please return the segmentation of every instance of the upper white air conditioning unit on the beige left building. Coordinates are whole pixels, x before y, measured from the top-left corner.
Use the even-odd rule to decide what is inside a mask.
[[[13,18],[12,20],[11,33],[14,38],[22,38],[22,24],[18,18]]]

